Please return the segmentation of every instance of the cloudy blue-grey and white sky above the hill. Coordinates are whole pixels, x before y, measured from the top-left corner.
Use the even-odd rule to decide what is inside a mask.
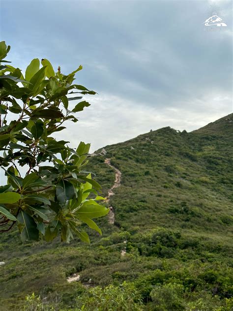
[[[150,129],[192,131],[233,111],[232,1],[0,0],[7,60],[46,58],[98,94],[59,139],[91,151]],[[227,24],[207,31],[211,7]],[[217,9],[216,9],[217,8]],[[208,28],[208,27],[207,27]],[[73,104],[76,104],[74,102]]]

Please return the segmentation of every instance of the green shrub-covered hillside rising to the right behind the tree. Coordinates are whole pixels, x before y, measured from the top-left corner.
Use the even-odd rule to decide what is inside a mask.
[[[122,174],[110,199],[115,224],[100,219],[103,236],[90,232],[90,246],[22,245],[17,231],[1,234],[2,310],[32,292],[56,310],[79,310],[89,288],[125,280],[143,302],[128,310],[233,310],[232,137],[233,114],[190,133],[150,131],[90,157],[104,195],[115,180],[105,157]],[[80,280],[68,283],[74,273]]]

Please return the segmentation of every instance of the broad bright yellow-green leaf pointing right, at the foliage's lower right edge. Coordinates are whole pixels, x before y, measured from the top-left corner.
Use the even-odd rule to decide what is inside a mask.
[[[109,209],[105,206],[99,205],[93,200],[85,202],[80,209],[75,213],[77,217],[81,218],[98,218],[107,215]]]

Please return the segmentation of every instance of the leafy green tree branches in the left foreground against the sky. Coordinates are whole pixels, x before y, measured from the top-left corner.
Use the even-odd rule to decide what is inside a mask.
[[[75,233],[89,243],[78,226],[85,222],[101,234],[92,219],[108,213],[97,203],[104,199],[97,193],[101,187],[83,171],[90,145],[81,142],[74,150],[53,134],[66,121],[76,123],[74,114],[90,105],[82,100],[72,109],[70,101],[95,92],[73,84],[81,65],[64,75],[48,60],[33,59],[23,75],[4,60],[9,50],[0,42],[0,167],[7,177],[0,187],[0,231],[17,224],[23,242],[58,234],[69,242]]]

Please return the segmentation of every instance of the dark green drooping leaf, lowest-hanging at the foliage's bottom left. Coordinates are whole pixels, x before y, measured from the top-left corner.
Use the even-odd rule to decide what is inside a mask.
[[[39,239],[39,231],[32,217],[30,217],[24,211],[20,211],[18,215],[18,220],[24,225],[24,228],[21,232],[21,239],[23,242]]]

